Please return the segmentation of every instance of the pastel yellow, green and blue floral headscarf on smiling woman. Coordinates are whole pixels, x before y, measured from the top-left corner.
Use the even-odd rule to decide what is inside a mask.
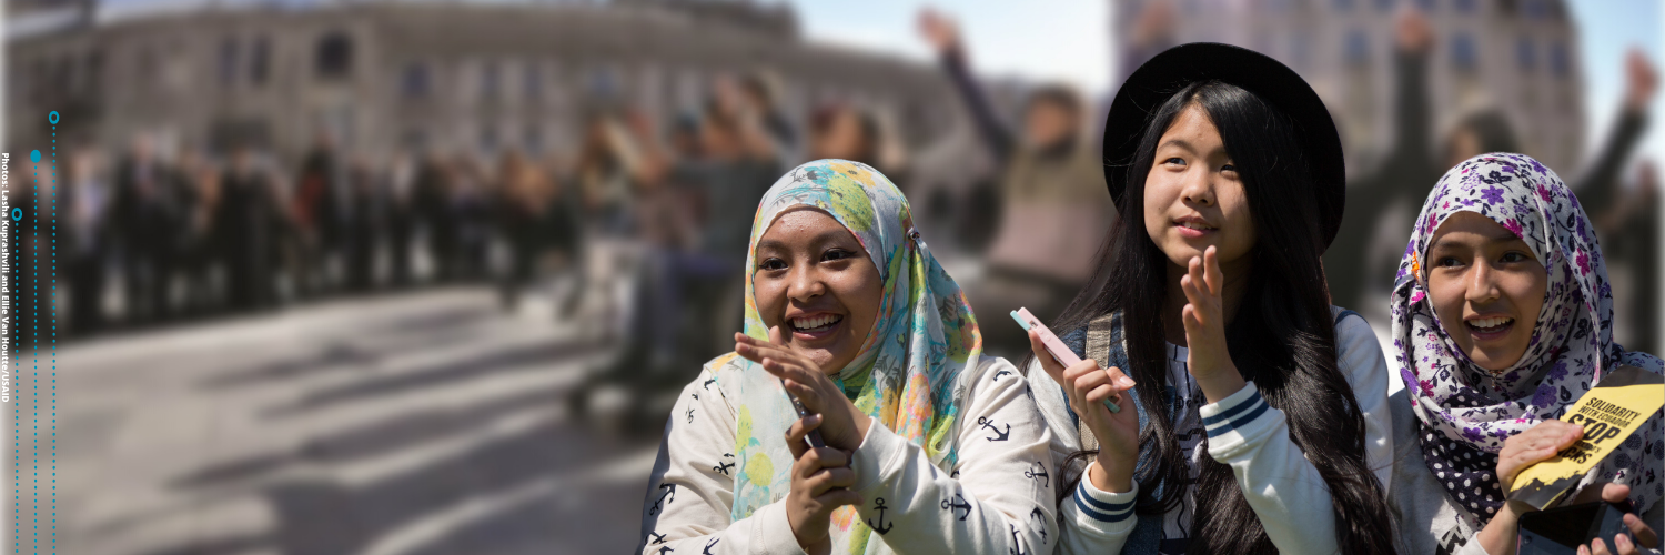
[[[961,380],[982,353],[982,333],[959,285],[942,272],[914,230],[907,198],[872,167],[846,160],[816,160],[786,173],[764,193],[746,253],[746,335],[768,340],[769,330],[753,297],[753,252],[776,217],[794,207],[814,207],[842,223],[884,282],[879,317],[861,352],[832,380],[844,395],[886,428],[924,448],[944,472],[954,467],[956,430],[966,383]],[[793,453],[786,428],[798,420],[781,382],[734,353],[706,365],[736,402],[733,518],[784,498],[791,490]],[[852,507],[832,513],[834,553],[882,552],[867,543],[871,528]]]

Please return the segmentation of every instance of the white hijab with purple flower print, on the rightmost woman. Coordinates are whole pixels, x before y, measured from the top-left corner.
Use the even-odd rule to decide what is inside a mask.
[[[1548,270],[1548,288],[1527,353],[1502,372],[1480,368],[1445,333],[1425,288],[1427,252],[1445,218],[1475,212],[1525,240]],[[1503,440],[1558,418],[1607,370],[1625,363],[1665,372],[1660,358],[1613,343],[1613,295],[1590,218],[1567,183],[1537,160],[1487,153],[1464,160],[1417,215],[1394,282],[1394,350],[1429,470],[1480,525],[1503,503],[1497,453]],[[1662,412],[1665,413],[1665,412]],[[1578,483],[1630,485],[1635,510],[1660,500],[1662,413]]]

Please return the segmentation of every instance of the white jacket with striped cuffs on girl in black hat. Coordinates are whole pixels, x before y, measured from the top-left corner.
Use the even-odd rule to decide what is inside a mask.
[[[1339,308],[1337,308],[1339,313]],[[1392,478],[1392,422],[1387,405],[1387,358],[1375,333],[1364,318],[1347,317],[1335,323],[1337,367],[1359,400],[1365,423],[1365,460],[1387,492]],[[1249,507],[1260,517],[1272,545],[1284,553],[1335,553],[1335,513],[1329,485],[1319,475],[1305,453],[1289,437],[1289,423],[1282,410],[1272,408],[1250,382],[1237,393],[1217,403],[1205,403],[1195,380],[1185,368],[1187,350],[1169,345],[1169,375],[1182,403],[1180,425],[1195,422],[1209,437],[1207,455],[1232,467],[1237,485]],[[1081,450],[1076,417],[1069,408],[1062,387],[1039,363],[1029,365],[1029,380],[1036,390],[1047,425],[1052,428],[1052,453],[1061,463],[1064,457]],[[1200,405],[1200,407],[1195,407]],[[1195,407],[1195,408],[1190,408]],[[1147,410],[1151,410],[1147,407]],[[1185,433],[1185,432],[1180,432]],[[1185,440],[1182,437],[1182,440]],[[1200,438],[1197,438],[1200,440]],[[1187,443],[1187,442],[1182,442]],[[1190,442],[1195,445],[1195,442]],[[1195,477],[1195,458],[1190,460]],[[1187,487],[1187,488],[1194,488]],[[1137,517],[1131,492],[1111,493],[1081,480],[1074,497],[1062,502],[1064,537],[1061,553],[1119,553],[1134,530]],[[1187,530],[1192,515],[1192,492],[1184,493],[1180,508],[1164,515],[1164,538]],[[1189,540],[1189,537],[1179,537]]]

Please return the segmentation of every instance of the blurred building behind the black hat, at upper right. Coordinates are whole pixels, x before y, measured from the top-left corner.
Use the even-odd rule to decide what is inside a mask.
[[[1557,168],[1582,158],[1578,37],[1563,0],[1121,0],[1112,13],[1119,48],[1157,2],[1169,3],[1174,43],[1254,48],[1305,77],[1335,115],[1349,173],[1369,172],[1394,140],[1394,17],[1407,3],[1432,23],[1437,137],[1459,117],[1495,107],[1528,155]]]

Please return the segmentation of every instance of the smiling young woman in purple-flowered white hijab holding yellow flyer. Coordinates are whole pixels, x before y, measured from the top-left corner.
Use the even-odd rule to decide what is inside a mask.
[[[1665,372],[1613,342],[1595,227],[1555,172],[1525,155],[1474,157],[1440,178],[1405,247],[1392,313],[1405,382],[1392,402],[1395,437],[1405,435],[1392,497],[1410,552],[1513,553],[1532,508],[1503,492],[1582,435],[1555,418],[1620,365]],[[1650,417],[1568,498],[1628,498],[1657,522],[1660,422]],[[1588,550],[1658,545],[1643,520],[1625,522],[1637,542],[1598,538]],[[1419,548],[1417,537],[1437,545]]]

